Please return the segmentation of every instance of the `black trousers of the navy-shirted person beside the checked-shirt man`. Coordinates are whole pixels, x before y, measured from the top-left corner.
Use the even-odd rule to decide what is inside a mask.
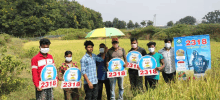
[[[105,84],[106,93],[107,93],[107,100],[110,100],[110,81],[107,80],[99,80],[99,93],[98,93],[98,100],[102,100],[102,90],[103,90],[103,84]]]

